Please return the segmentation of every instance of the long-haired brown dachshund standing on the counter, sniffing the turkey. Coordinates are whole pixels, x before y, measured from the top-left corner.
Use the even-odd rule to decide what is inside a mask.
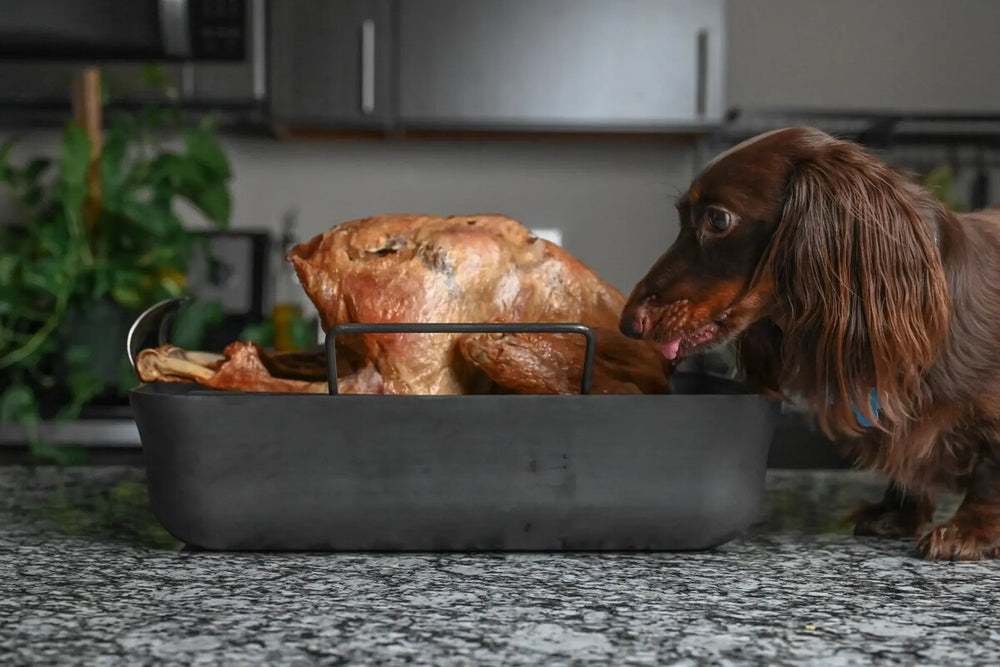
[[[622,331],[668,358],[733,341],[748,384],[806,399],[890,479],[857,534],[1000,556],[1000,209],[956,214],[860,146],[790,128],[715,158],[677,210]],[[942,489],[965,498],[924,533]]]

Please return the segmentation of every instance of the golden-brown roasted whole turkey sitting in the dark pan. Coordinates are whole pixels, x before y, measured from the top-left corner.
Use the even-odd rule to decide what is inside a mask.
[[[669,362],[626,338],[625,297],[562,248],[499,215],[385,215],[346,222],[288,254],[324,329],[347,322],[582,322],[597,332],[593,393],[667,393]],[[576,393],[584,341],[563,334],[365,334],[338,338],[341,393]],[[322,349],[223,355],[144,350],[146,382],[326,392]]]

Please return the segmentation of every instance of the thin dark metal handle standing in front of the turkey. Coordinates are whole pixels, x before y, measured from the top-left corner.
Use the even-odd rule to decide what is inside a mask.
[[[350,334],[428,334],[428,333],[572,333],[583,336],[587,348],[583,356],[583,377],[580,393],[590,393],[590,380],[594,369],[594,330],[586,324],[570,322],[477,322],[472,324],[338,324],[326,332],[326,372],[330,395],[337,395],[337,336]]]

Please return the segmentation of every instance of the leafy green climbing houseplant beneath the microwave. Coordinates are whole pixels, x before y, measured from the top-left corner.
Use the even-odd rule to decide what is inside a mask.
[[[54,159],[14,164],[14,145],[0,148],[0,186],[13,206],[13,219],[0,221],[0,421],[24,425],[36,455],[59,460],[38,441],[39,421],[73,418],[136,384],[122,323],[183,293],[197,236],[177,204],[225,228],[231,171],[208,120],[186,123],[162,107],[111,122],[97,161],[75,121]],[[96,206],[90,170],[99,170]],[[221,317],[210,303],[183,315],[182,336]]]

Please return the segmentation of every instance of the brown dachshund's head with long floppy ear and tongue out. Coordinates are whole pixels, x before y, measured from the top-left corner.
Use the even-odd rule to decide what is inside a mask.
[[[760,135],[710,162],[677,210],[677,239],[633,290],[623,333],[668,358],[746,342],[771,384],[843,398],[831,411],[845,424],[852,399],[912,389],[936,354],[946,213],[860,146],[812,128]]]

